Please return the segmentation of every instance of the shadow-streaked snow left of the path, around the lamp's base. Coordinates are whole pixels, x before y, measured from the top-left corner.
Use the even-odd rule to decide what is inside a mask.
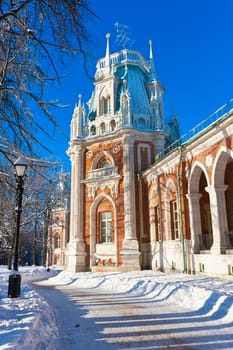
[[[48,272],[43,267],[25,267],[20,269],[20,273],[21,295],[19,298],[8,298],[9,271],[6,267],[0,268],[0,349],[46,349],[57,336],[54,313],[47,302],[25,282],[45,279]],[[55,273],[54,270],[49,275]]]

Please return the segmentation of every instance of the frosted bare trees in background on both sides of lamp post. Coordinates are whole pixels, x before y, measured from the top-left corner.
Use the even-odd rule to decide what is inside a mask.
[[[33,162],[31,161],[33,166]],[[61,201],[59,165],[48,161],[29,167],[24,179],[20,221],[19,258],[23,263],[45,265],[51,212]],[[0,162],[0,263],[11,269],[16,233],[16,181],[14,167]]]

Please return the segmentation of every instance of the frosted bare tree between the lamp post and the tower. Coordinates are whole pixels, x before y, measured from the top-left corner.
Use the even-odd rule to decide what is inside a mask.
[[[23,235],[21,255],[32,248],[33,264],[46,265],[49,225],[52,210],[61,198],[58,168],[41,166],[40,172],[30,171],[25,183]],[[38,170],[38,169],[37,169]]]

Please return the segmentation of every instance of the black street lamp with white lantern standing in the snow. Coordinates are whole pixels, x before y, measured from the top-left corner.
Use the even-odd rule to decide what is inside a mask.
[[[19,227],[20,215],[22,211],[22,196],[25,172],[27,169],[27,162],[23,157],[19,157],[14,162],[15,176],[16,176],[16,235],[14,241],[14,262],[13,273],[9,276],[8,297],[17,298],[20,296],[21,276],[18,272],[19,265]]]

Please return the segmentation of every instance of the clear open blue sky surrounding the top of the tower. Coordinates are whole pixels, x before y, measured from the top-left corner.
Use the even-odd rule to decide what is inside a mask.
[[[105,55],[107,32],[111,53],[116,45],[116,22],[129,27],[132,49],[149,58],[148,41],[158,80],[165,88],[165,118],[175,113],[181,134],[192,129],[233,97],[233,1],[232,0],[96,0],[91,8],[100,17],[87,23],[91,43],[89,73]],[[57,111],[58,122],[69,138],[69,125],[78,94],[86,103],[93,82],[84,72],[81,57],[68,61],[61,84],[49,89],[51,99],[69,107]],[[51,142],[49,142],[50,144]],[[50,148],[70,170],[68,140],[57,134]]]

